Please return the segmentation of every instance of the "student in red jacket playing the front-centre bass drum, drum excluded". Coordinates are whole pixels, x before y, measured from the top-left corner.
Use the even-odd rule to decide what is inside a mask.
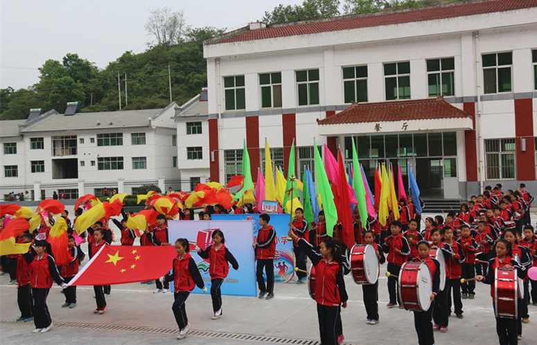
[[[440,263],[431,258],[429,255],[430,247],[429,242],[421,240],[418,243],[418,252],[419,257],[414,258],[412,262],[414,263],[425,263],[428,265],[431,278],[432,278],[432,294],[430,301],[434,301],[434,298],[437,297],[440,288]],[[419,344],[434,344],[434,334],[432,332],[432,311],[434,307],[433,304],[429,306],[428,310],[423,312],[414,311],[414,328],[416,328],[416,333],[418,333],[418,343]]]

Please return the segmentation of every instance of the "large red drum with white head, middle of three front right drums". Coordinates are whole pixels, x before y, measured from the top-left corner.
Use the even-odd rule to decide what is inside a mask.
[[[427,311],[431,306],[432,276],[426,263],[403,263],[399,272],[399,295],[406,310]]]

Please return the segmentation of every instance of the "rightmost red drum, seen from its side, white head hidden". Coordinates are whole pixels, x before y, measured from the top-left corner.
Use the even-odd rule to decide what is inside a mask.
[[[494,272],[494,307],[496,317],[518,317],[518,277],[516,269],[498,267]]]

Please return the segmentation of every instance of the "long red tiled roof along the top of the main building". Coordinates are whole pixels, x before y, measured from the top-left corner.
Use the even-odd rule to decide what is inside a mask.
[[[418,8],[414,10],[398,10],[387,13],[376,12],[368,15],[352,17],[346,16],[313,22],[276,25],[261,30],[248,30],[246,32],[240,32],[232,37],[227,37],[227,35],[225,35],[222,37],[222,40],[218,40],[218,37],[215,37],[211,43],[219,44],[252,41],[255,39],[267,39],[274,37],[308,35],[313,33],[327,33],[330,31],[351,30],[355,28],[403,24],[413,21],[428,21],[434,19],[464,17],[469,15],[482,15],[492,12],[520,10],[522,8],[532,7],[537,7],[537,0],[466,1],[464,3],[455,3],[450,6]]]

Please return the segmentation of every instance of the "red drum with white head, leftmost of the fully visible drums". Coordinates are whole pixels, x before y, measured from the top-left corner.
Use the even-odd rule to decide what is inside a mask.
[[[380,263],[372,245],[354,245],[351,249],[351,272],[357,284],[374,284],[380,274]]]

